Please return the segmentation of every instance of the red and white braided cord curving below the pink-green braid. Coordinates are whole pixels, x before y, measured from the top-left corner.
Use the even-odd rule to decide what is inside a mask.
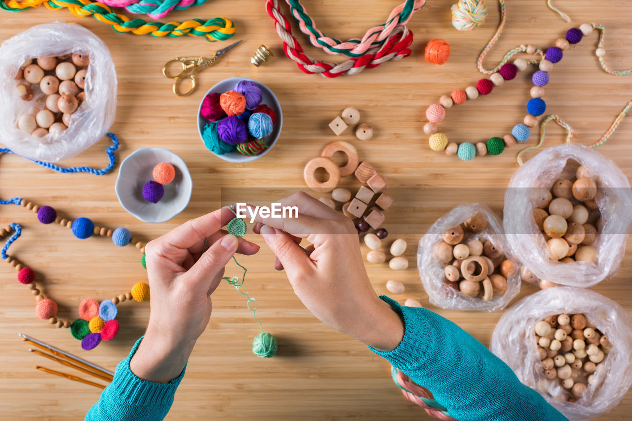
[[[277,34],[283,40],[285,55],[296,62],[305,73],[318,73],[327,78],[342,75],[356,75],[365,68],[374,68],[389,60],[399,60],[410,56],[408,47],[413,42],[413,34],[406,27],[397,27],[389,39],[380,47],[369,49],[367,54],[359,58],[351,58],[343,63],[317,62],[303,52],[303,47],[292,35],[292,27],[283,15],[278,0],[265,0],[265,10],[274,19]]]

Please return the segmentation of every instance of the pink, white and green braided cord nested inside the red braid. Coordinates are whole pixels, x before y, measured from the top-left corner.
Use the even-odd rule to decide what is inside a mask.
[[[360,57],[369,48],[381,46],[392,35],[395,28],[406,25],[413,13],[426,3],[426,0],[406,0],[406,3],[400,4],[391,12],[386,23],[370,28],[362,39],[352,38],[343,42],[326,37],[320,32],[299,0],[286,1],[292,15],[298,20],[301,32],[309,37],[313,46],[320,47],[329,54],[344,54],[349,57]]]

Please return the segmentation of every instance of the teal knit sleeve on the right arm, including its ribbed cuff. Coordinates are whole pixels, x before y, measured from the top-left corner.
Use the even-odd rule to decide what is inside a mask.
[[[397,348],[382,352],[394,367],[428,389],[459,421],[568,421],[540,394],[522,384],[502,360],[450,320],[425,308],[401,307],[404,321]]]

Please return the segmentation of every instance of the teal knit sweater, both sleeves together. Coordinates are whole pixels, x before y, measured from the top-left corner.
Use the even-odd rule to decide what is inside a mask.
[[[404,320],[404,338],[386,358],[460,421],[568,421],[482,343],[453,322],[425,308],[401,307],[380,297]],[[185,375],[169,383],[147,382],[130,370],[130,355],[116,367],[114,381],[86,415],[87,421],[162,420]]]

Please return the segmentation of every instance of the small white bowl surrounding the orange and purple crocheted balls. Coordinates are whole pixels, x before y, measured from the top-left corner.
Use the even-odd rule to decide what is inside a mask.
[[[152,171],[161,162],[169,162],[176,169],[176,176],[164,186],[164,196],[158,203],[143,198],[143,186],[154,180]],[[193,181],[185,161],[171,150],[162,148],[138,149],[121,162],[116,178],[116,196],[121,206],[130,214],[146,223],[169,221],[182,212],[191,199]]]

